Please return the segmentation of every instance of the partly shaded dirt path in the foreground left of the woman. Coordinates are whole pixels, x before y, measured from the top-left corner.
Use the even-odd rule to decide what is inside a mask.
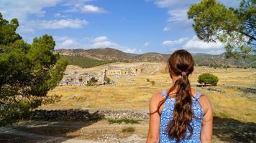
[[[122,127],[127,127],[127,124],[104,124],[104,122],[99,122],[99,124],[93,124],[81,128],[81,124],[79,122],[60,122],[57,124],[49,122],[29,122],[24,125],[19,125],[18,127],[0,128],[0,142],[2,143],[2,141],[5,141],[3,143],[142,143],[146,141],[145,138],[139,137],[137,134],[129,134],[129,136],[127,137],[116,137],[116,135],[113,134],[113,132],[111,131],[111,129],[118,129]],[[145,128],[145,125],[134,124],[132,125],[132,127]],[[53,130],[52,135],[49,134],[49,129]],[[65,129],[73,129],[72,132],[75,132],[76,135],[71,135],[74,137],[62,137],[60,134],[58,134],[60,130]],[[91,132],[91,134],[85,134],[84,130]],[[94,141],[91,139],[83,139],[84,137],[87,138],[87,136],[91,137],[92,134],[96,134],[95,131],[100,136],[104,135],[104,137],[99,136],[98,139],[96,139],[97,141],[95,141],[95,138],[92,138]],[[77,134],[79,134],[78,138],[75,138]],[[9,136],[9,138],[17,138],[17,140],[13,141],[12,139],[10,140],[8,137],[6,140],[1,140],[1,136]]]

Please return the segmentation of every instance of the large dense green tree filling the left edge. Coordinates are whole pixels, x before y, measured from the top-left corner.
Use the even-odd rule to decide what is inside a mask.
[[[68,64],[53,52],[52,36],[27,44],[16,33],[18,26],[17,19],[9,22],[0,13],[0,125],[17,122],[44,104]]]

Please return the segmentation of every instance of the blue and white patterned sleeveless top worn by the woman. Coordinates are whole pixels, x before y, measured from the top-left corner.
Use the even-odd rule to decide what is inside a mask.
[[[167,92],[162,92],[163,97],[167,97]],[[191,127],[193,128],[193,133],[191,137],[188,137],[190,132],[186,130],[186,137],[180,140],[180,143],[183,142],[201,142],[200,134],[201,134],[201,123],[204,117],[204,112],[199,103],[199,98],[201,96],[200,92],[196,93],[196,97],[192,97],[192,112],[193,118],[191,120]],[[170,138],[166,129],[168,124],[173,119],[173,109],[175,106],[175,99],[172,97],[168,97],[163,104],[163,111],[161,114],[161,121],[160,121],[160,143],[173,143],[176,142],[175,139]]]

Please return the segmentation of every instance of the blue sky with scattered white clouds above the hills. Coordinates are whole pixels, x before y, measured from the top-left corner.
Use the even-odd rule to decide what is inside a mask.
[[[28,43],[50,34],[55,49],[111,47],[130,53],[175,49],[220,54],[220,42],[198,40],[186,11],[198,0],[1,0],[5,19],[19,19],[18,33]],[[237,7],[239,0],[219,0]]]

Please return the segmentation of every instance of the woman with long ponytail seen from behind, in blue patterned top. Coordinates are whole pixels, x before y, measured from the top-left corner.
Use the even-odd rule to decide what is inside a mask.
[[[194,61],[186,50],[173,52],[168,69],[173,86],[150,100],[147,143],[211,142],[213,113],[206,96],[191,89]]]

